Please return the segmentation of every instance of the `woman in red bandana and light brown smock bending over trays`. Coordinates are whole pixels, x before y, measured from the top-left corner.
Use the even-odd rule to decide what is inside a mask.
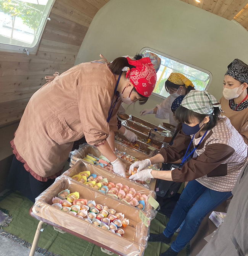
[[[122,72],[124,67],[128,71]],[[115,173],[125,167],[111,150],[123,99],[147,102],[156,83],[150,58],[81,63],[45,84],[29,100],[11,145],[9,188],[32,201],[60,175],[73,142],[85,136],[106,156]]]

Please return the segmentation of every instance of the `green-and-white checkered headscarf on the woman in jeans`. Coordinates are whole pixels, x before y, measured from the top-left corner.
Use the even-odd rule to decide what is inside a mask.
[[[214,111],[214,107],[221,109],[221,104],[207,91],[190,91],[183,99],[181,106],[193,112],[210,115]]]

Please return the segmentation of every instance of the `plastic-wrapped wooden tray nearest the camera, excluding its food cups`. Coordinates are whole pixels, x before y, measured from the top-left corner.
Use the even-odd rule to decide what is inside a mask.
[[[124,228],[124,235],[122,237],[118,236],[81,218],[68,214],[68,212],[53,207],[51,205],[52,198],[65,189],[68,189],[70,193],[77,191],[79,198],[94,200],[96,204],[106,205],[109,209],[122,212],[125,218],[129,219],[129,225]],[[143,212],[143,214],[145,217],[148,216],[147,212]],[[139,209],[109,198],[98,190],[83,186],[65,175],[56,178],[53,185],[36,198],[32,208],[32,215],[36,219],[45,221],[48,224],[66,228],[78,234],[81,238],[103,248],[111,249],[119,255],[142,256],[147,247],[149,227],[146,227],[140,219]]]

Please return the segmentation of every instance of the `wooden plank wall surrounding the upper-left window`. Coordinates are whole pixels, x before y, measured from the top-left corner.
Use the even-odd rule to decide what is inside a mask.
[[[56,0],[37,53],[0,52],[0,126],[19,120],[45,75],[74,65],[97,11],[108,0]]]

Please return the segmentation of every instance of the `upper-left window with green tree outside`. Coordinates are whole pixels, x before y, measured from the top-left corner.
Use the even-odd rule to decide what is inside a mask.
[[[53,2],[53,0],[0,0],[1,49],[23,51],[23,47],[28,50],[35,48]]]

